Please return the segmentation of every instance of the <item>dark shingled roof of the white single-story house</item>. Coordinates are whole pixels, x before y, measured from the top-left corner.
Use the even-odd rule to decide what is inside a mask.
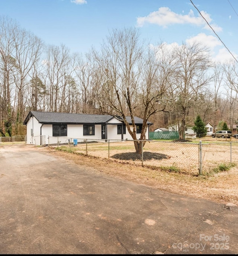
[[[30,111],[24,125],[27,124],[30,115],[35,116],[41,124],[104,124],[113,119],[110,115],[88,115],[88,114],[75,114],[75,113],[57,113],[57,112],[40,112]],[[143,119],[134,117],[135,124],[142,124]],[[126,116],[126,120],[131,124],[131,117]],[[147,124],[152,124],[147,122]]]

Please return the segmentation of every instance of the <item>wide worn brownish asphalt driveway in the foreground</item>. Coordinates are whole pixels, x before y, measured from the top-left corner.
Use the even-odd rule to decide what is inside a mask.
[[[0,146],[1,254],[236,254],[238,208]]]

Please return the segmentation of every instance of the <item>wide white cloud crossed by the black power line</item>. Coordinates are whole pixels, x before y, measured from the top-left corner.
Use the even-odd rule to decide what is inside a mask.
[[[215,31],[222,31],[221,27],[212,24],[212,18],[210,18],[209,13],[201,11],[201,14]],[[158,11],[151,12],[148,16],[137,18],[138,26],[143,26],[145,23],[157,24],[164,28],[172,24],[193,24],[196,26],[203,26],[205,29],[210,29],[202,16],[194,16],[193,10],[190,10],[188,14],[183,15],[172,12],[168,7],[160,7]]]

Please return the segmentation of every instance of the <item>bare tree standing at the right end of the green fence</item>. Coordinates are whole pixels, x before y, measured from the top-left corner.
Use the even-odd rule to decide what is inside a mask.
[[[184,139],[186,116],[199,93],[202,93],[210,81],[207,71],[210,67],[208,50],[200,43],[183,44],[175,49],[177,70],[174,82],[177,84],[176,100],[179,139]]]

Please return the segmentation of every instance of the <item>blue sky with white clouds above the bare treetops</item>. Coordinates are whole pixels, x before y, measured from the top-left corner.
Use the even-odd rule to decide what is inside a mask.
[[[238,1],[192,1],[237,58]],[[231,57],[190,0],[0,0],[0,15],[71,52],[99,48],[112,28],[137,26],[141,38],[154,45],[196,39],[210,47],[214,59]]]

